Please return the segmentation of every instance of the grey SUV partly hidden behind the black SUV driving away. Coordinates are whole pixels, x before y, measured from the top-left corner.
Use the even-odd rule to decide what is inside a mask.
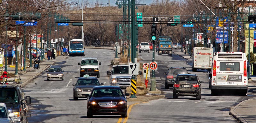
[[[173,86],[174,82],[172,82],[172,80],[175,80],[178,74],[188,74],[188,71],[184,67],[171,67],[167,70],[167,73],[164,72],[165,89],[169,89]]]

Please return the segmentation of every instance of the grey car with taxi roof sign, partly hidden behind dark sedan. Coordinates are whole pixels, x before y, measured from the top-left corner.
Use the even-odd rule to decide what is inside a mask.
[[[76,83],[72,85],[74,86],[73,99],[78,100],[78,98],[87,98],[93,87],[103,85],[103,83],[100,83],[96,77],[90,77],[86,74],[84,77],[78,78]]]

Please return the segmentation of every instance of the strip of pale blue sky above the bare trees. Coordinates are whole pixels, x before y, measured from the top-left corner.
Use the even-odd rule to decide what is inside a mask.
[[[74,0],[74,1],[77,1],[77,0]],[[78,0],[79,3],[81,3],[82,0]],[[83,0],[84,2],[87,1],[87,0]],[[95,3],[99,3],[99,4],[107,4],[108,1],[110,3],[110,6],[116,6],[116,0],[88,0],[90,3],[94,4]],[[123,1],[123,0],[119,0],[120,1]],[[125,0],[124,0],[125,1]],[[151,4],[153,2],[153,0],[139,0],[141,1],[140,3],[137,3],[137,4]]]

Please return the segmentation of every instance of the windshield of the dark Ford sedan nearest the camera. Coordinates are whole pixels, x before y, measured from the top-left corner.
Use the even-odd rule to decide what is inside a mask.
[[[92,91],[92,97],[102,96],[123,96],[123,92],[120,89],[95,89]]]

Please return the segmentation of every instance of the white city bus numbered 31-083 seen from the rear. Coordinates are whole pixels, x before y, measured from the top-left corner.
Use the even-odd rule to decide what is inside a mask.
[[[246,96],[248,90],[247,59],[242,52],[217,52],[213,54],[209,88],[212,95],[232,92]]]

